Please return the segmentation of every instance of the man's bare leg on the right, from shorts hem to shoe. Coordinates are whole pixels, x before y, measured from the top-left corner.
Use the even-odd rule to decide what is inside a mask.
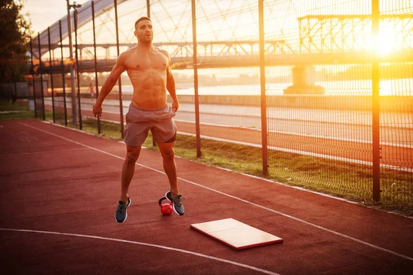
[[[171,193],[173,197],[176,197],[179,194],[179,190],[176,173],[175,151],[173,151],[174,145],[175,142],[158,142],[158,148],[163,159],[164,170],[168,176],[169,185],[171,186]]]

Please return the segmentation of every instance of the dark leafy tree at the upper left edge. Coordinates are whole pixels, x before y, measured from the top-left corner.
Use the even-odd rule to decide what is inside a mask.
[[[0,83],[24,80],[28,74],[30,22],[20,13],[24,0],[0,0]]]

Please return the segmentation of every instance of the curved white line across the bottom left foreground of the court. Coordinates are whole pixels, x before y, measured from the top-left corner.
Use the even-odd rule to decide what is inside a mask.
[[[149,246],[151,248],[161,248],[161,249],[164,249],[164,250],[172,250],[172,251],[176,251],[176,252],[182,252],[182,253],[185,253],[185,254],[191,254],[191,255],[194,255],[194,256],[199,256],[199,257],[214,260],[214,261],[220,261],[222,263],[229,263],[231,265],[237,265],[239,267],[247,268],[248,270],[254,270],[254,271],[257,271],[257,272],[262,272],[264,274],[279,275],[278,273],[271,272],[271,271],[268,271],[268,270],[262,270],[261,268],[253,267],[251,265],[244,265],[243,263],[237,263],[237,262],[234,262],[234,261],[229,261],[229,260],[225,260],[225,259],[221,259],[221,258],[217,258],[217,257],[205,255],[205,254],[200,254],[200,253],[192,252],[192,251],[189,251],[189,250],[181,250],[179,248],[170,248],[169,246],[164,246],[164,245],[155,245],[153,243],[141,243],[139,241],[127,241],[127,240],[123,240],[123,239],[107,238],[107,237],[104,237],[104,236],[71,234],[71,233],[51,232],[51,231],[13,229],[13,228],[0,228],[0,230],[17,231],[17,232],[30,232],[30,233],[43,233],[43,234],[54,234],[54,235],[64,235],[64,236],[78,236],[78,237],[89,238],[89,239],[99,239],[99,240],[105,240],[105,241],[118,241],[120,243],[131,243],[131,244],[134,244],[134,245],[144,245],[144,246]]]

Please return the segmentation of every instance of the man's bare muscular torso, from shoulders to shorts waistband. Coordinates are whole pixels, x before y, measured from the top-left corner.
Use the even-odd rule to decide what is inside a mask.
[[[157,109],[167,103],[169,59],[160,49],[145,52],[133,47],[125,54],[124,65],[134,86],[132,104],[141,109]]]

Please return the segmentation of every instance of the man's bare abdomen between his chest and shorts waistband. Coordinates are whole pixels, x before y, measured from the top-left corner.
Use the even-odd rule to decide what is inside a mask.
[[[156,69],[128,70],[134,86],[132,104],[140,109],[158,109],[167,104],[166,73]]]

